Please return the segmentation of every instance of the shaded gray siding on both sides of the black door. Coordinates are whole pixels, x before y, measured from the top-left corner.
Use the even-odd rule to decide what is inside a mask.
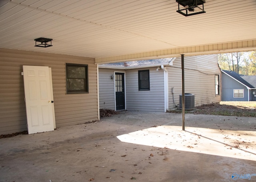
[[[125,72],[126,110],[164,112],[164,80],[163,70],[157,67],[130,70],[99,68],[99,100],[100,108],[115,108],[114,79],[110,75],[114,72]],[[150,70],[150,90],[138,89],[138,70]]]

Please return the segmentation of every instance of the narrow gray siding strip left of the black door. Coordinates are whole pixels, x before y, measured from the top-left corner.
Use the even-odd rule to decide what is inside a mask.
[[[99,68],[100,108],[115,110],[114,69]],[[122,70],[123,71],[123,70]]]

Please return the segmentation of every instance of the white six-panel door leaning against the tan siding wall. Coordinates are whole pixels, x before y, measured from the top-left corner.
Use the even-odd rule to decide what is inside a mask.
[[[49,67],[23,66],[28,134],[54,131]]]

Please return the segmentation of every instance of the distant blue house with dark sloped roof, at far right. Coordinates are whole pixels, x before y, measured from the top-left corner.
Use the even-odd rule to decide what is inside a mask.
[[[256,101],[256,76],[222,72],[222,101]]]

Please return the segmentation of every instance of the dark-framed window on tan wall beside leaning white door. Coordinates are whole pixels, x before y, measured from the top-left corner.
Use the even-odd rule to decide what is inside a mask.
[[[88,92],[88,65],[66,63],[66,93]]]

